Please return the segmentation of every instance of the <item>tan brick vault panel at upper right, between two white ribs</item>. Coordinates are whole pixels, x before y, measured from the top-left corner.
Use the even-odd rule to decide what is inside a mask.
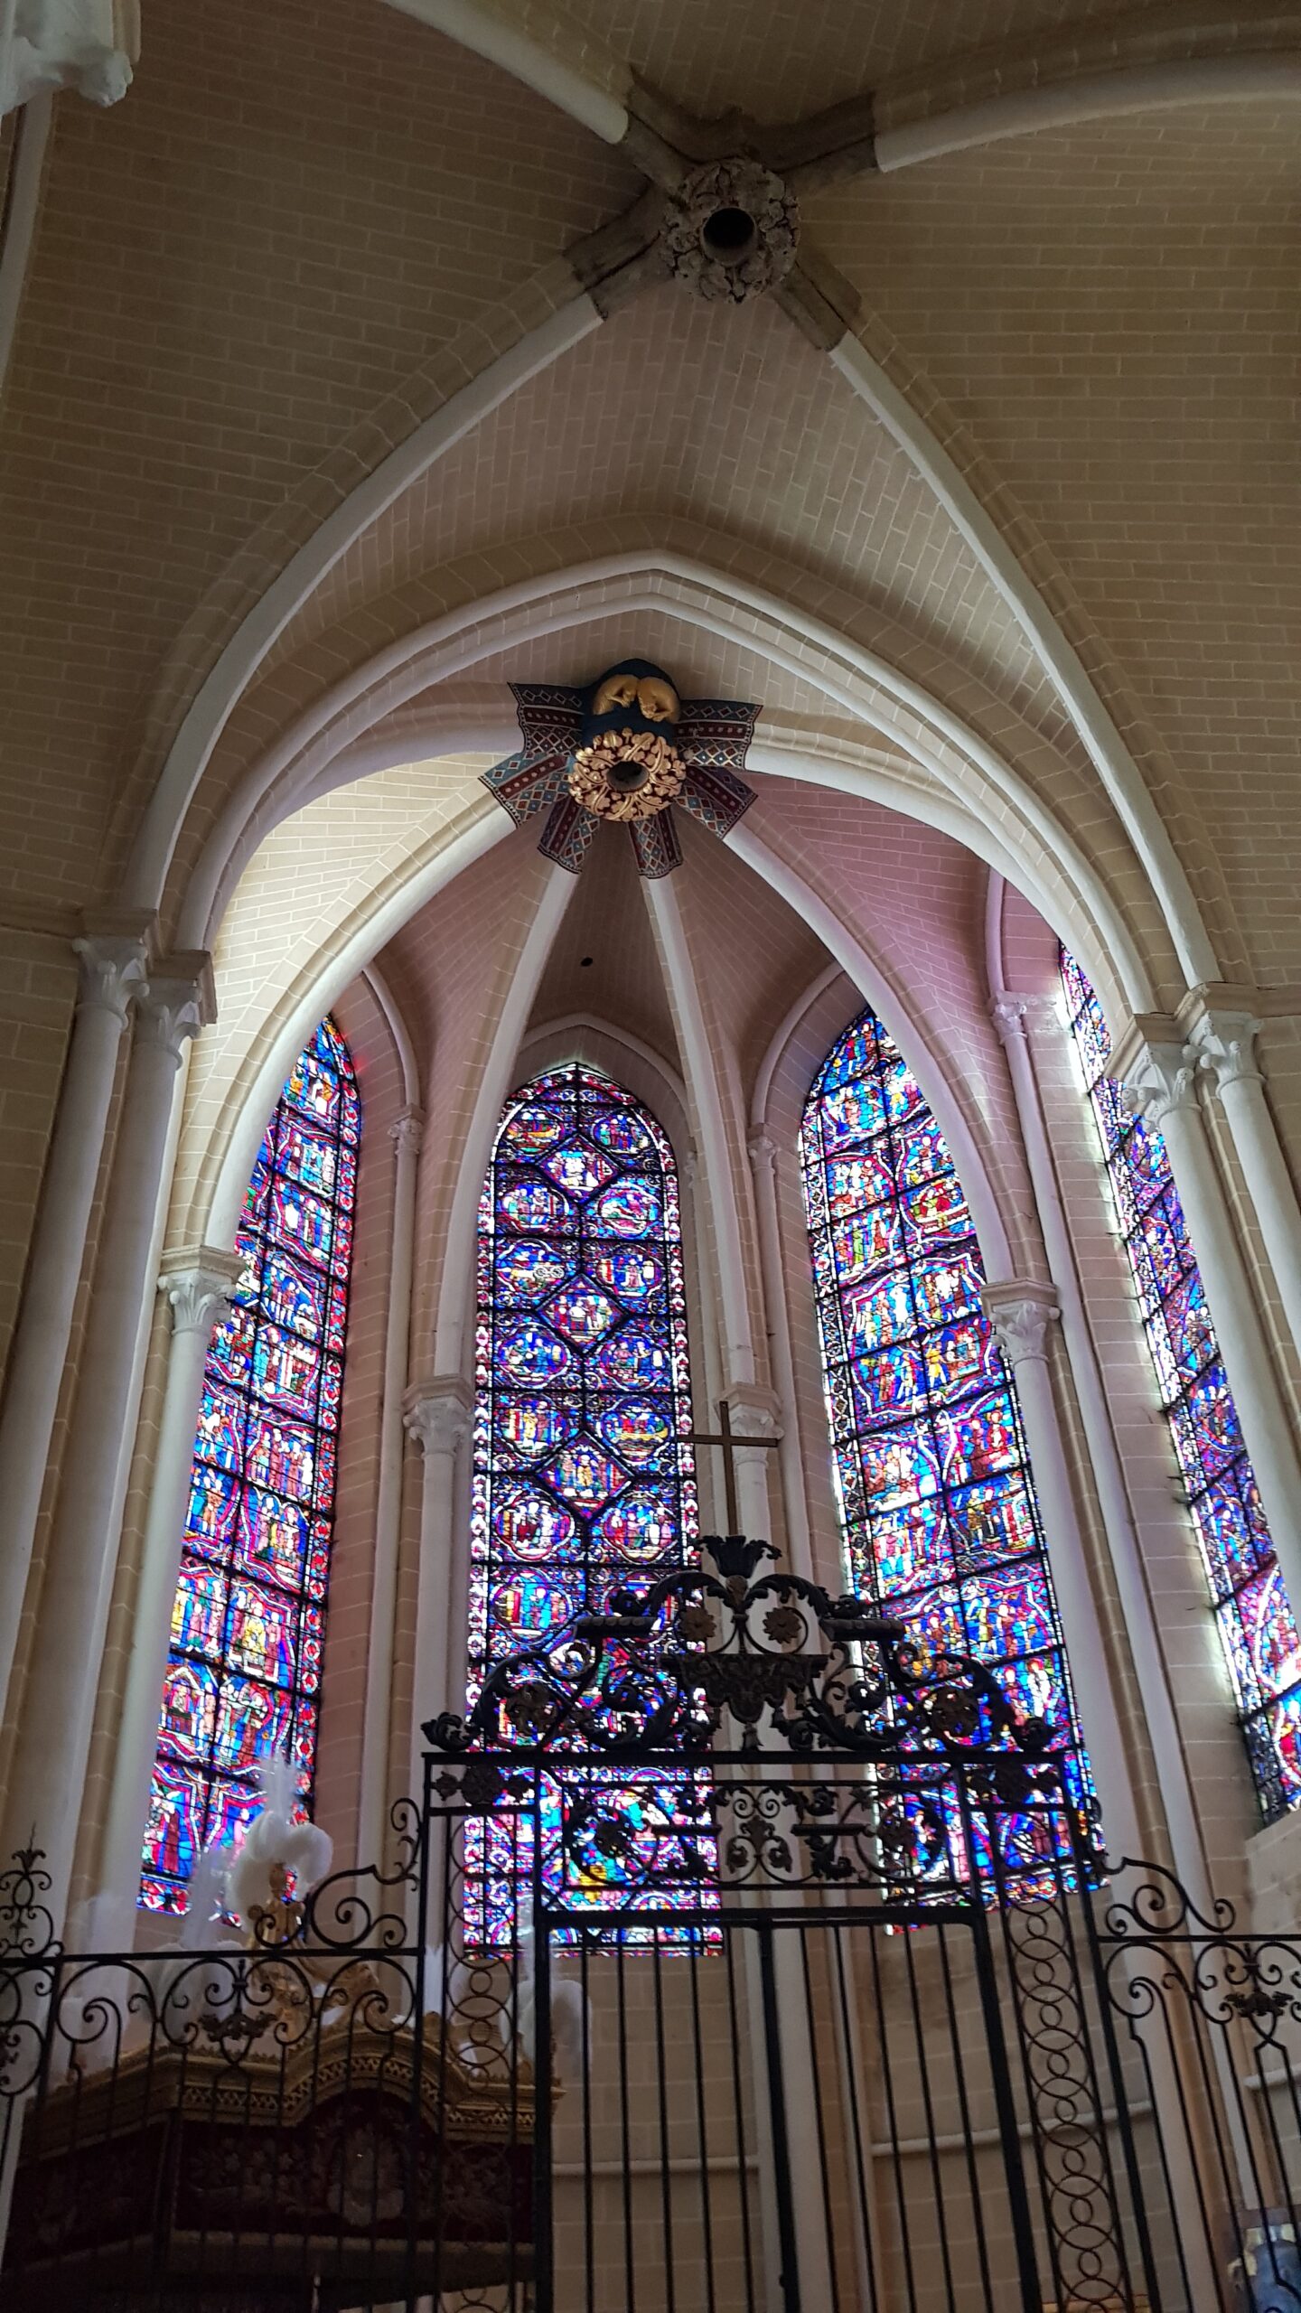
[[[1243,909],[1266,978],[1296,974],[1299,213],[1296,111],[1259,102],[810,201],[819,245],[1044,539],[1148,777],[1204,814],[1195,872],[1192,847],[1238,874],[1241,830],[1259,860],[1276,828],[1278,874],[1262,865]]]

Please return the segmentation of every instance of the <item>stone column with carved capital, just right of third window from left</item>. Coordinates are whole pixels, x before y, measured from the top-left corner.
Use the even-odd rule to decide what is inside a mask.
[[[1049,1369],[1049,1342],[1051,1328],[1058,1321],[1058,1295],[1046,1284],[1005,1279],[984,1286],[982,1302],[1016,1383],[1016,1402],[1035,1473],[1035,1494],[1044,1517],[1053,1589],[1063,1617],[1074,1700],[1083,1744],[1093,1763],[1107,1843],[1113,1855],[1139,1855],[1144,1841],[1134,1811],[1125,1737],[1116,1709],[1111,1663],[1093,1596]]]

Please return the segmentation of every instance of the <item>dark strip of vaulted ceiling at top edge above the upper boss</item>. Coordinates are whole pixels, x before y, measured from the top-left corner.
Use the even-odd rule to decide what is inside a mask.
[[[1111,16],[1116,0],[567,0],[565,14],[694,113],[799,120],[970,49]]]

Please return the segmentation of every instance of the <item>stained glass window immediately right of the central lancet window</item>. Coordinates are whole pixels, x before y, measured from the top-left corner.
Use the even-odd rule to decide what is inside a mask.
[[[975,1654],[1088,1767],[1012,1374],[979,1302],[963,1187],[866,1011],[803,1110],[803,1191],[850,1577],[926,1645]]]

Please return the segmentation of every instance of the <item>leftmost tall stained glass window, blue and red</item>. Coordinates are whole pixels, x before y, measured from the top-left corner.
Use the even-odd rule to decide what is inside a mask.
[[[194,1855],[292,1758],[310,1804],[361,1110],[322,1020],[257,1152],[231,1314],[204,1367],[141,1904],[183,1911]]]

